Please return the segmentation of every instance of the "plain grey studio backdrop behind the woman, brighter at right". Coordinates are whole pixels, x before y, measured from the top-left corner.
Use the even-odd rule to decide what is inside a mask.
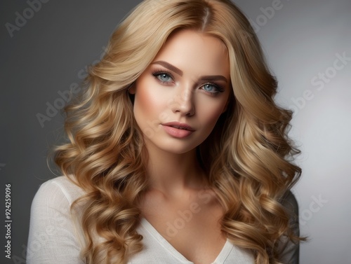
[[[99,59],[114,27],[140,1],[126,2],[51,0],[31,14],[26,1],[1,1],[0,199],[11,183],[13,259],[1,251],[0,263],[25,263],[30,204],[54,176],[46,154],[60,140],[63,119],[52,111],[40,124],[37,115],[46,116],[50,104],[60,108],[59,92]],[[303,151],[303,177],[293,192],[301,232],[310,237],[300,263],[351,263],[351,59],[338,59],[351,58],[351,1],[282,0],[275,10],[279,0],[235,3],[255,25],[279,80],[277,101],[296,111],[291,137]],[[16,12],[24,11],[27,21],[11,36],[6,23],[15,25]]]

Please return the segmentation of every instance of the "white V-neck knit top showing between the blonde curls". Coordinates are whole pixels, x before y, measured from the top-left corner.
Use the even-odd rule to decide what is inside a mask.
[[[81,249],[83,232],[70,211],[74,200],[84,191],[65,176],[46,181],[32,202],[27,264],[84,264]],[[128,264],[192,264],[145,219],[137,228],[143,235],[143,251],[133,255]],[[212,264],[254,263],[250,251],[241,249],[229,240]]]

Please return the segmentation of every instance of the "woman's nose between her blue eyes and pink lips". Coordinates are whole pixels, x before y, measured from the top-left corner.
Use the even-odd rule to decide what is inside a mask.
[[[171,109],[173,113],[180,113],[182,116],[194,116],[194,92],[191,89],[180,89],[172,101]]]

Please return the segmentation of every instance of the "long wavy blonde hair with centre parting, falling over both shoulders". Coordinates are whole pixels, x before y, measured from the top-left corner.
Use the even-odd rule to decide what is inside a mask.
[[[222,229],[234,244],[251,249],[256,263],[277,263],[282,236],[300,239],[281,204],[301,172],[291,162],[298,151],[286,135],[291,112],[274,103],[277,82],[249,21],[229,0],[143,1],[90,68],[84,93],[66,107],[69,141],[55,148],[55,162],[86,192],[74,204],[84,204],[83,254],[88,263],[126,263],[142,250],[135,229],[147,188],[147,151],[127,89],[181,29],[215,36],[229,52],[232,99],[198,148],[225,209]]]

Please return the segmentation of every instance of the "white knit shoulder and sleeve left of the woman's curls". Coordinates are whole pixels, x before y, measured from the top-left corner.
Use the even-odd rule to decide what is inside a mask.
[[[27,264],[85,264],[70,206],[81,189],[63,176],[43,183],[31,207]]]

